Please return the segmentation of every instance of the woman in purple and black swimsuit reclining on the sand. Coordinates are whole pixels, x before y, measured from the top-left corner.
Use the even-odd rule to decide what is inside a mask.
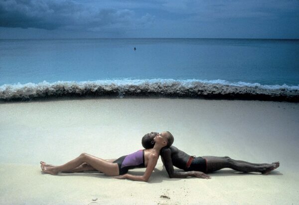
[[[107,176],[118,176],[117,179],[131,179],[135,181],[148,182],[149,177],[157,164],[161,148],[169,147],[173,143],[173,136],[170,132],[162,132],[152,139],[154,146],[150,149],[139,150],[133,154],[120,157],[115,160],[103,160],[95,156],[83,153],[76,159],[61,165],[53,166],[40,162],[43,173],[56,175],[59,172],[83,172],[99,171]],[[127,174],[128,170],[134,168],[144,168],[146,172],[143,176]]]

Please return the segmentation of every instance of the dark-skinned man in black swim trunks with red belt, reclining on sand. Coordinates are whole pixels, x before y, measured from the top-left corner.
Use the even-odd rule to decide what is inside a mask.
[[[142,138],[142,145],[146,149],[150,149],[155,145],[154,137],[158,133],[151,132]],[[230,168],[238,172],[260,172],[262,174],[269,174],[280,166],[279,162],[272,164],[255,164],[241,160],[233,160],[227,156],[214,157],[190,156],[174,146],[163,148],[160,152],[162,162],[170,178],[184,178],[184,177],[198,177],[210,179],[206,173],[215,172],[223,168]],[[184,170],[185,172],[174,171],[173,166]]]

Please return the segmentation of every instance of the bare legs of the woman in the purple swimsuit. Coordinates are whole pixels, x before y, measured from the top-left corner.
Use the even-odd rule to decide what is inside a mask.
[[[58,172],[70,171],[76,168],[79,169],[83,163],[87,163],[95,170],[100,171],[108,176],[119,175],[119,168],[116,163],[112,163],[111,161],[106,161],[86,153],[81,154],[76,159],[64,165],[54,167],[45,167],[41,165],[41,169],[44,173],[56,175]]]

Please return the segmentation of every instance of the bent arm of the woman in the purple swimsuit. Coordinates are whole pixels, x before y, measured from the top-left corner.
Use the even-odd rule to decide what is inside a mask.
[[[125,174],[125,175],[121,175],[121,176],[115,177],[115,178],[117,178],[117,179],[130,179],[130,180],[134,180],[134,181],[148,182],[149,177],[150,177],[153,169],[155,168],[158,159],[159,159],[159,156],[156,155],[156,154],[150,154],[149,155],[148,167],[147,167],[146,172],[143,176]]]

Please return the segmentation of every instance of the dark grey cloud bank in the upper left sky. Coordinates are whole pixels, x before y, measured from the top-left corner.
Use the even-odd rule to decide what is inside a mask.
[[[143,26],[153,16],[136,16],[133,10],[99,8],[73,0],[0,1],[0,26],[46,30],[109,31]]]

